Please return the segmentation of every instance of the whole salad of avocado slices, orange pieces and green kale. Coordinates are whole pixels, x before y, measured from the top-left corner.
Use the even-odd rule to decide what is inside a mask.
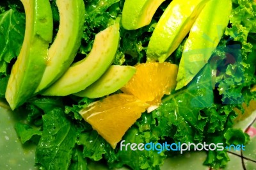
[[[36,146],[39,169],[88,169],[92,163],[109,169],[160,169],[166,158],[182,154],[180,149],[168,150],[167,143],[179,148],[191,144],[191,150],[197,144],[212,144],[214,149],[202,148],[207,154],[202,164],[219,169],[230,161],[224,147],[243,149],[250,141],[234,125],[256,110],[255,1],[53,0],[49,8],[48,1],[31,3],[35,1],[0,3],[0,101],[22,115],[15,130],[20,143]],[[213,6],[216,2],[219,5]],[[39,4],[44,8],[33,8]],[[57,56],[52,59],[56,66],[40,61],[45,54]],[[193,56],[193,62],[186,56]],[[158,77],[152,72],[154,82],[140,78],[140,84],[154,85],[145,93],[161,91],[161,82],[172,80],[154,103],[136,96],[139,86],[129,82],[147,63],[170,68]],[[114,76],[110,68],[115,73],[123,70]],[[160,75],[167,78],[159,79]],[[103,86],[107,82],[111,90]],[[87,117],[84,112],[92,112],[95,104],[107,108],[100,106],[106,101],[111,108],[118,97],[135,101],[124,107],[143,109],[111,143],[108,136],[115,129],[108,136],[103,133],[111,123],[93,124],[88,118],[96,111]],[[111,122],[116,124],[118,118]],[[151,144],[151,149],[140,150],[138,145],[134,150],[128,143]],[[222,150],[216,149],[218,144]]]

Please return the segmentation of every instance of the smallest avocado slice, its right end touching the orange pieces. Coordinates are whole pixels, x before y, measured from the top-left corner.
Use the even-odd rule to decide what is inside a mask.
[[[88,98],[104,97],[122,88],[135,72],[136,68],[134,66],[110,66],[99,80],[74,95]]]

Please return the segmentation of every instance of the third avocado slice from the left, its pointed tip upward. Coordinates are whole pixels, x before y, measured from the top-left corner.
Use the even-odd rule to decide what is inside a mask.
[[[58,81],[42,95],[66,96],[77,93],[97,81],[113,63],[119,45],[119,24],[100,31],[95,36],[91,52],[68,68]]]

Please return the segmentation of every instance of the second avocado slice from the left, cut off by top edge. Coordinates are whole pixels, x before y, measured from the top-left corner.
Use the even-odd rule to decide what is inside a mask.
[[[60,26],[49,49],[44,75],[35,92],[47,88],[68,69],[74,61],[83,35],[83,0],[56,0],[56,4],[60,12]]]

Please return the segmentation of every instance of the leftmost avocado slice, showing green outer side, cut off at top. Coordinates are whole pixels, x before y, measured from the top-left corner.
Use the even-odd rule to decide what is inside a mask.
[[[26,13],[24,41],[12,67],[6,100],[12,109],[26,102],[37,88],[46,67],[52,40],[52,10],[49,1],[21,0]]]

